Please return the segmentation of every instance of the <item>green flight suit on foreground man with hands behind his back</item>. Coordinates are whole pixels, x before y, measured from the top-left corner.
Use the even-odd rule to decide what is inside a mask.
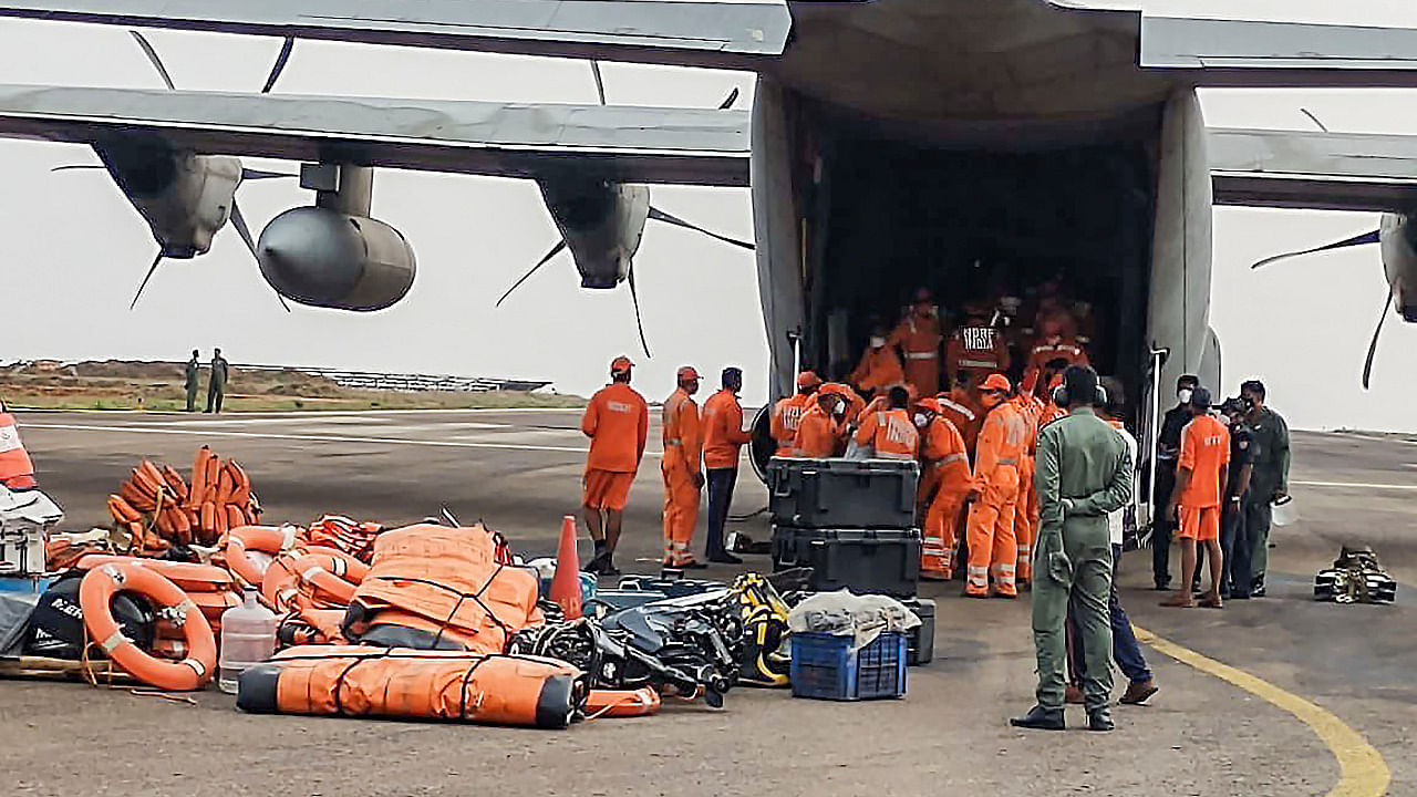
[[[1132,457],[1122,437],[1091,408],[1077,407],[1039,431],[1036,489],[1041,529],[1033,547],[1033,644],[1039,655],[1037,701],[1063,708],[1068,598],[1076,600],[1087,674],[1083,701],[1097,710],[1111,702],[1112,546],[1107,513],[1132,498]]]

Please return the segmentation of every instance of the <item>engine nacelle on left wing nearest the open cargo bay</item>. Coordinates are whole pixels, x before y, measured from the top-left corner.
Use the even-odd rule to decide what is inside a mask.
[[[645,235],[649,189],[581,176],[543,177],[537,184],[575,260],[581,288],[623,282]]]

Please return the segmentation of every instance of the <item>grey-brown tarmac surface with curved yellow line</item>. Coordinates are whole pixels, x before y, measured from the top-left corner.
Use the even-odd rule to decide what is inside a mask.
[[[550,554],[560,518],[577,512],[585,448],[578,416],[567,411],[18,417],[68,530],[108,522],[103,499],[139,457],[186,472],[196,448],[210,444],[251,472],[268,522],[339,512],[394,525],[446,505],[463,522],[480,518],[503,530],[523,553]],[[657,427],[650,441],[626,511],[626,572],[656,570],[662,549]],[[1343,794],[1359,797],[1382,794],[1390,770],[1386,793],[1417,794],[1417,601],[1407,591],[1417,579],[1417,445],[1297,433],[1291,482],[1302,518],[1275,530],[1267,598],[1221,611],[1159,608],[1162,596],[1145,589],[1149,552],[1124,559],[1122,603],[1139,627],[1241,672],[1226,681],[1214,674],[1223,668],[1146,648],[1162,691],[1148,706],[1115,708],[1110,735],[1009,728],[1007,718],[1032,705],[1027,600],[969,601],[954,583],[922,586],[924,597],[939,600],[937,658],[910,671],[903,701],[832,703],[735,689],[723,710],[674,705],[656,718],[537,732],[248,716],[214,689],[191,706],[10,681],[0,684],[0,771],[13,793],[64,796],[1268,797],[1329,794],[1342,783]],[[734,512],[765,503],[745,469]],[[768,535],[761,515],[730,528]],[[1312,601],[1314,572],[1343,542],[1377,550],[1403,581],[1397,606]],[[588,552],[582,540],[582,560]],[[769,567],[752,557],[750,566]],[[733,574],[720,567],[707,577]],[[1254,686],[1261,693],[1231,682],[1248,676],[1263,679]],[[1329,732],[1285,710],[1291,698],[1329,712],[1333,723],[1319,723]],[[1081,726],[1081,709],[1071,708],[1068,720]],[[1335,726],[1356,736],[1335,740]]]

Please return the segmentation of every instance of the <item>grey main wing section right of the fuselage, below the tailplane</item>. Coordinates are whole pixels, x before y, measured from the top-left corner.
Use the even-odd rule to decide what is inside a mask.
[[[1216,204],[1417,207],[1417,136],[1212,128],[1206,147]]]

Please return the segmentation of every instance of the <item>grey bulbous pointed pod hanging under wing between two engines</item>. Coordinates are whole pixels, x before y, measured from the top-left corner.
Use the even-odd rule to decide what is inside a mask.
[[[256,244],[261,275],[282,296],[316,308],[381,311],[414,285],[414,248],[363,216],[296,207],[276,216]]]

